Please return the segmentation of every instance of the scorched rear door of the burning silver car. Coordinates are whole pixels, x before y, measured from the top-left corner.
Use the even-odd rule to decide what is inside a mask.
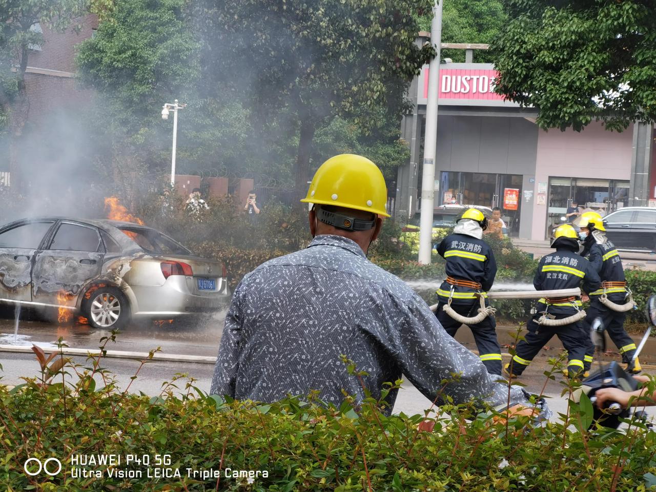
[[[52,241],[54,241],[54,237],[56,236],[57,232],[59,231],[60,227],[63,224],[71,224],[73,226],[85,227],[96,232],[96,235],[98,236],[98,245],[99,247],[102,247],[102,251],[100,252],[96,251],[96,253],[92,253],[90,251],[50,249],[52,246]],[[47,254],[49,252],[56,252],[61,254],[49,255]],[[77,253],[77,255],[75,255],[75,253]],[[89,282],[91,282],[93,279],[100,276],[105,255],[106,255],[106,247],[104,245],[104,241],[102,241],[102,236],[100,236],[100,230],[97,226],[94,226],[92,224],[86,224],[85,222],[79,222],[77,220],[70,220],[70,219],[57,220],[54,227],[51,228],[51,230],[49,230],[49,234],[47,234],[45,241],[41,243],[41,248],[39,249],[39,251],[37,251],[34,257],[34,262],[32,266],[32,275],[31,275],[32,300],[34,302],[38,302],[39,304],[75,307],[77,305],[77,298],[79,297],[79,295],[83,294],[83,288],[86,285],[88,285]],[[66,256],[70,256],[71,258],[68,258],[67,261]],[[57,258],[60,261],[62,260],[62,258],[64,258],[64,261],[68,262],[66,266],[73,266],[73,267],[77,267],[77,265],[81,265],[81,264],[87,264],[87,263],[83,263],[83,260],[85,261],[88,260],[89,261],[88,268],[86,268],[87,274],[85,274],[84,278],[82,278],[81,276],[77,277],[79,281],[75,283],[65,283],[66,280],[57,279],[56,277],[52,277],[49,281],[45,281],[45,279],[42,278],[43,276],[41,275],[41,270],[40,270],[42,265],[41,261],[45,260],[45,258]],[[54,262],[56,262],[57,259],[55,259]],[[37,279],[36,278],[37,276],[41,276],[41,278]]]

